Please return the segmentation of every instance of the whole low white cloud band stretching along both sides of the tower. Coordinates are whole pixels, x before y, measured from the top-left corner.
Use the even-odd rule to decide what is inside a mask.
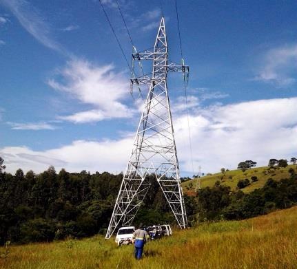
[[[296,156],[296,107],[297,98],[283,98],[192,111],[190,126],[196,169],[194,173],[197,173],[199,165],[205,172],[216,172],[221,167],[236,169],[238,162],[243,160],[267,165],[270,158]],[[187,116],[176,115],[173,120],[181,171],[192,173]],[[129,134],[118,140],[79,140],[48,151],[5,147],[0,149],[0,155],[8,161],[8,171],[15,171],[19,167],[25,171],[43,171],[53,164],[57,169],[65,167],[68,171],[86,169],[119,172],[125,169],[133,137]],[[46,164],[47,159],[38,161],[41,156],[52,161],[46,161]]]

